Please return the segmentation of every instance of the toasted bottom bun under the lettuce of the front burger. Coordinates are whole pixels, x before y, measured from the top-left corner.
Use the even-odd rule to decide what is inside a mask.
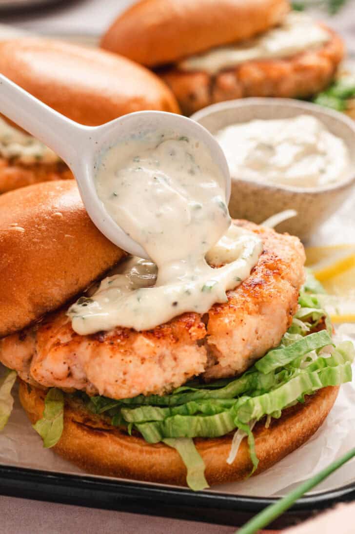
[[[338,387],[320,389],[272,419],[253,429],[259,458],[256,473],[273,466],[309,439],[322,425],[335,402]],[[45,391],[20,382],[20,400],[31,423],[42,417]],[[232,465],[226,460],[233,432],[220,438],[196,438],[196,448],[206,465],[210,485],[242,480],[252,465],[246,439],[243,439]],[[64,430],[56,446],[60,456],[74,462],[88,473],[134,478],[136,480],[186,485],[186,468],[175,449],[162,443],[149,444],[138,435],[108,425],[69,397],[64,412]]]

